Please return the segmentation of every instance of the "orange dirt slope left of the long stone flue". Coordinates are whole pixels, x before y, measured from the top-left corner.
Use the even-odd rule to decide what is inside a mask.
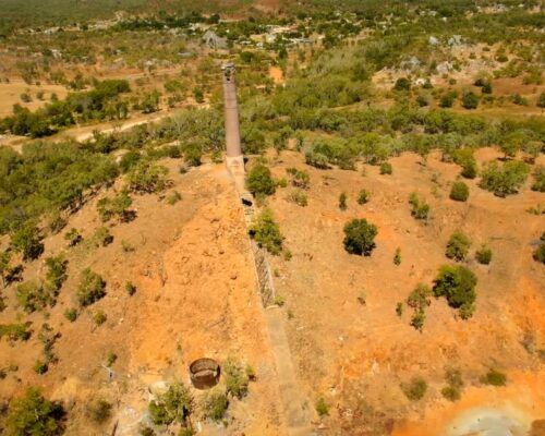
[[[136,196],[136,219],[111,228],[111,245],[93,249],[83,242],[66,250],[64,232],[45,241],[46,255],[66,252],[69,279],[47,316],[23,316],[33,322],[34,334],[27,342],[11,347],[1,340],[0,367],[19,367],[0,380],[2,400],[27,385],[39,386],[68,405],[68,435],[109,434],[114,424],[117,435],[134,435],[149,401],[150,385],[172,379],[189,384],[187,365],[194,359],[235,356],[252,365],[257,382],[251,384],[247,398],[231,403],[231,422],[219,434],[282,434],[275,364],[255,292],[244,219],[231,181],[222,166],[205,165],[180,174],[175,160],[167,165],[172,189],[183,198],[170,206],[156,195]],[[100,226],[97,199],[69,223],[69,228],[81,229],[86,240]],[[123,252],[121,241],[135,251]],[[85,267],[105,278],[108,294],[69,323],[63,312],[75,305],[78,275]],[[43,277],[44,269],[43,258],[34,262],[26,268],[25,279]],[[124,290],[128,280],[137,288],[133,296]],[[13,289],[4,295],[10,307],[0,314],[2,324],[22,314],[13,308]],[[99,308],[108,319],[94,327],[90,315]],[[46,322],[62,336],[53,349],[59,362],[40,376],[33,365],[41,358],[37,331]],[[111,378],[104,366],[109,351],[119,356]],[[85,415],[86,401],[97,397],[114,403],[114,419],[101,427],[89,425]],[[197,421],[194,417],[195,425]],[[218,431],[209,426],[203,434]]]

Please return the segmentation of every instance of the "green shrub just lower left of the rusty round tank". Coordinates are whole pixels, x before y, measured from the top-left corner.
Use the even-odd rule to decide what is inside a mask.
[[[173,422],[184,424],[193,409],[193,398],[182,383],[173,383],[165,393],[149,403],[149,417],[155,425]]]

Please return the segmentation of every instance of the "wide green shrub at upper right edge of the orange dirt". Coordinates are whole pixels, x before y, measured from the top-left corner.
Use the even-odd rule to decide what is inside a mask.
[[[526,181],[529,168],[525,164],[509,160],[499,167],[489,162],[482,172],[479,185],[498,197],[516,194]]]

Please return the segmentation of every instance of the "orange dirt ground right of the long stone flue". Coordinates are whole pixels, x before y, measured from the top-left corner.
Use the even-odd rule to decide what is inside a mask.
[[[477,153],[481,161],[497,157],[491,149]],[[532,244],[545,229],[542,217],[525,211],[543,204],[544,194],[526,186],[502,199],[468,181],[468,203],[452,202],[449,185],[460,170],[438,156],[423,166],[404,154],[391,159],[392,175],[365,166],[365,177],[310,168],[292,152],[271,160],[278,178],[286,178],[289,167],[305,167],[311,174],[307,207],[287,201],[291,187],[270,201],[293,253],[290,262],[272,258],[271,267],[277,292],[286,299],[300,378],[308,398],[323,396],[330,405],[324,434],[438,435],[456,412],[506,403],[525,413],[528,422],[545,417],[545,373],[536,352],[545,338],[545,269],[532,259]],[[356,203],[361,189],[371,192],[363,206]],[[410,215],[413,191],[431,204],[427,223]],[[348,195],[346,211],[338,207],[341,192]],[[352,218],[378,227],[371,257],[349,255],[342,247],[342,227]],[[432,284],[438,267],[448,263],[445,246],[456,229],[473,241],[467,263],[479,277],[476,311],[469,320],[457,319],[444,300],[433,299],[421,334],[410,326],[411,308],[405,305],[398,317],[396,303],[404,302],[417,282]],[[484,243],[494,252],[489,266],[473,257]],[[392,263],[397,247],[400,266]],[[365,305],[358,301],[362,293]],[[459,367],[465,383],[457,403],[440,395],[448,365]],[[489,367],[508,375],[507,387],[479,383]],[[400,383],[415,375],[428,389],[423,400],[410,402]]]

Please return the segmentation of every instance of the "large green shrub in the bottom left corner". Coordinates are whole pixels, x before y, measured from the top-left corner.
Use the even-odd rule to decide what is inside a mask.
[[[28,388],[11,400],[5,422],[8,436],[56,436],[62,433],[62,405],[46,400],[37,388]]]

